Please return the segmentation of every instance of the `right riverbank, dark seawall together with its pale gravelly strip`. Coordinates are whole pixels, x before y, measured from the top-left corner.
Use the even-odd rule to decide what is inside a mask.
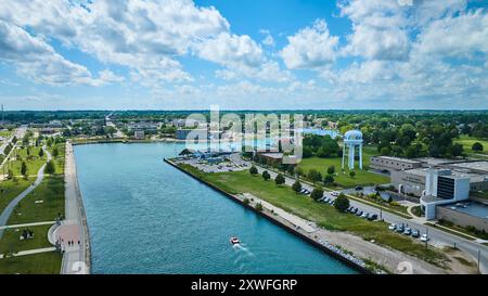
[[[190,177],[198,180],[200,182],[206,184],[207,186],[211,188],[213,190],[223,194],[224,196],[229,197],[230,200],[241,204],[245,208],[251,209],[251,210],[257,213],[258,215],[260,215],[261,217],[267,218],[272,223],[274,223],[279,227],[282,227],[284,230],[288,231],[290,233],[295,234],[296,236],[298,236],[301,240],[306,241],[307,243],[313,245],[314,247],[321,249],[322,252],[326,253],[329,256],[344,262],[348,267],[357,270],[358,272],[372,273],[372,271],[370,269],[368,269],[363,263],[361,263],[361,260],[354,258],[352,256],[350,256],[347,253],[341,253],[341,252],[337,252],[337,249],[331,248],[330,245],[328,245],[323,241],[323,237],[319,237],[319,236],[314,235],[313,234],[314,232],[309,232],[309,231],[305,230],[304,228],[297,227],[296,224],[292,223],[290,219],[285,219],[282,216],[277,215],[277,213],[274,210],[271,211],[268,208],[264,208],[262,210],[256,209],[256,204],[259,203],[258,200],[254,200],[254,201],[247,203],[247,202],[245,202],[245,200],[247,197],[245,197],[244,195],[230,194],[230,193],[219,189],[218,186],[215,186],[214,184],[206,182],[205,180],[202,180],[201,178],[191,173],[190,171],[182,169],[181,167],[179,167],[177,164],[175,164],[170,159],[165,158],[164,162],[169,164],[170,166],[177,168],[178,170],[189,175]],[[297,219],[299,219],[299,218],[297,218]]]

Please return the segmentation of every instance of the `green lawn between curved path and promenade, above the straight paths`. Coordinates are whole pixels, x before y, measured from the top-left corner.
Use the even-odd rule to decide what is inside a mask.
[[[9,224],[54,221],[59,214],[64,216],[64,178],[49,176],[15,207]]]

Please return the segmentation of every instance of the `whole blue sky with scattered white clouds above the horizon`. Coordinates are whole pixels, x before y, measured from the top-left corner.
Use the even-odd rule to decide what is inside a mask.
[[[488,108],[464,0],[0,3],[8,110]]]

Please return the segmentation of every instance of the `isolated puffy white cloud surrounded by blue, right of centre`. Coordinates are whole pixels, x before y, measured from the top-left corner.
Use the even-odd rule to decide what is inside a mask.
[[[338,37],[331,36],[324,20],[312,27],[287,37],[288,44],[280,52],[287,68],[319,68],[332,63],[336,55]]]

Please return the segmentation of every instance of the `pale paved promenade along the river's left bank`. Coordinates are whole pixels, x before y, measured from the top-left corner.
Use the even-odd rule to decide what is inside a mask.
[[[56,230],[55,235],[60,241],[74,241],[75,246],[65,248],[61,273],[88,274],[90,273],[88,227],[76,176],[75,155],[73,153],[73,145],[70,142],[66,142],[64,178],[66,184],[66,218],[62,226]]]

